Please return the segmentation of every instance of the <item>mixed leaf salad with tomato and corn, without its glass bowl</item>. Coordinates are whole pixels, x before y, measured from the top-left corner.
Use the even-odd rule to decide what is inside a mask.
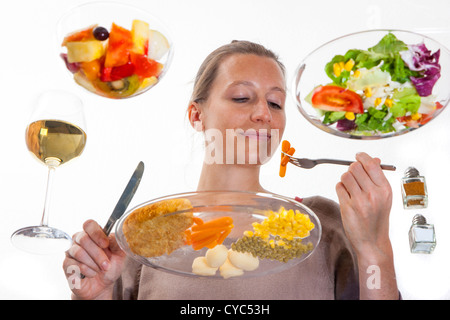
[[[441,75],[440,50],[406,45],[388,33],[367,50],[351,49],[325,66],[331,83],[305,98],[323,124],[356,135],[417,128],[442,108],[433,95]]]

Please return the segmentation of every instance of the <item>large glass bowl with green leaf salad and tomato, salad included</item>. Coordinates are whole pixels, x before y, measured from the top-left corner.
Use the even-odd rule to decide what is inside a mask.
[[[317,128],[380,139],[422,127],[450,100],[450,52],[401,30],[362,31],[329,41],[298,66],[293,95]]]

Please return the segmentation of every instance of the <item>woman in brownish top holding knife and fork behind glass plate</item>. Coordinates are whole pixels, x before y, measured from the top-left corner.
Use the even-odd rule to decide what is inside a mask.
[[[283,134],[285,72],[277,57],[264,47],[233,41],[212,52],[196,77],[188,108],[192,126],[215,136],[215,144],[233,148],[239,139],[242,154],[205,152],[198,190],[266,191],[259,171],[267,159],[250,158],[262,148],[273,154]],[[278,137],[276,134],[278,133]],[[227,139],[232,134],[233,139]],[[217,137],[221,136],[222,140]],[[230,143],[233,142],[233,144]],[[220,142],[220,143],[219,143]],[[218,144],[217,144],[218,143]],[[208,144],[209,146],[209,144]],[[257,151],[257,149],[259,149]],[[211,161],[211,155],[214,159]],[[227,160],[227,161],[225,161]],[[231,161],[230,161],[231,160]],[[231,163],[230,163],[231,162]],[[86,221],[74,235],[63,268],[77,266],[86,276],[73,288],[74,299],[398,299],[389,240],[390,185],[380,160],[365,153],[342,175],[336,186],[340,202],[322,197],[303,202],[318,215],[323,237],[315,253],[283,273],[240,281],[185,278],[126,258],[114,235]],[[341,218],[342,216],[342,218]],[[195,292],[195,294],[193,294]]]

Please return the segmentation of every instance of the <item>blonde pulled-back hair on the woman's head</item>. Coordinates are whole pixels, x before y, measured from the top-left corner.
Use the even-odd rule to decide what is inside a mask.
[[[190,103],[201,103],[208,99],[210,88],[216,79],[220,64],[225,58],[233,54],[253,54],[271,58],[278,63],[283,76],[285,76],[285,67],[273,51],[254,42],[233,40],[231,43],[223,45],[211,52],[203,61],[195,77]]]

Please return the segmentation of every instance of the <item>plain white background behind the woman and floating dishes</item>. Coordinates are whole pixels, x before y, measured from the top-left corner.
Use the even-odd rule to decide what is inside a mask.
[[[30,105],[45,89],[61,88],[84,101],[88,142],[82,157],[56,172],[50,225],[69,234],[89,218],[104,224],[138,161],[146,171],[131,206],[159,196],[193,191],[202,164],[202,137],[189,127],[185,110],[197,68],[206,55],[233,39],[256,41],[276,51],[288,70],[289,88],[298,63],[313,49],[338,36],[371,28],[419,31],[450,47],[447,0],[133,0],[169,27],[174,60],[166,77],[139,97],[112,101],[78,88],[57,56],[55,25],[69,8],[86,1],[13,1],[0,10],[0,298],[69,299],[62,270],[64,255],[36,256],[15,249],[16,229],[41,218],[46,168],[33,160],[24,133]],[[114,17],[112,17],[114,19]],[[448,71],[447,71],[448,72]],[[450,113],[429,125],[381,141],[331,136],[310,125],[287,99],[284,138],[296,155],[353,159],[358,151],[395,164],[387,172],[394,191],[391,241],[399,288],[405,299],[450,298]],[[278,157],[262,171],[265,188],[286,196],[323,195],[337,200],[335,184],[344,167],[312,170],[293,166],[278,177]],[[400,179],[415,166],[428,182],[430,204],[404,210]],[[432,255],[409,252],[408,230],[415,213],[435,224]]]

